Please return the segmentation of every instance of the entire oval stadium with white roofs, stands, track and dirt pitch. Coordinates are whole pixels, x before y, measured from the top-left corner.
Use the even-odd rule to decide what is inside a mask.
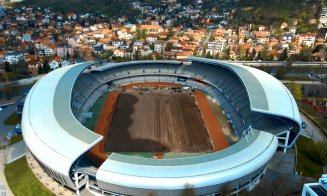
[[[287,88],[255,68],[191,57],[81,63],[25,100],[22,132],[42,169],[77,194],[236,194],[302,131]]]

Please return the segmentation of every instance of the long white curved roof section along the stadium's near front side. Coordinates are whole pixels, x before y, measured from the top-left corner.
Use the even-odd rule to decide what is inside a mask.
[[[273,156],[277,145],[272,134],[254,130],[248,141],[243,139],[225,150],[196,157],[155,160],[113,153],[99,168],[97,179],[145,189],[183,189],[187,183],[210,186],[259,169]]]

